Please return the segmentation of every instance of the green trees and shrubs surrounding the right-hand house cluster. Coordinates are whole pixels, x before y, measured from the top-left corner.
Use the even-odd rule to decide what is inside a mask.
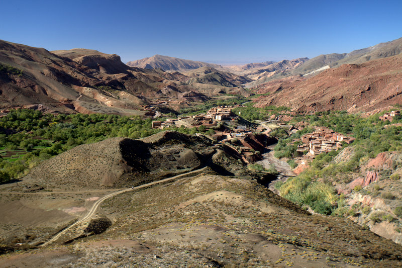
[[[349,183],[351,172],[358,172],[363,162],[379,152],[402,151],[402,127],[393,125],[400,123],[401,119],[396,118],[391,123],[379,120],[379,115],[363,118],[343,112],[325,112],[295,117],[293,122],[306,122],[309,127],[327,126],[343,134],[352,134],[356,140],[351,145],[352,153],[347,161],[333,161],[339,151],[320,154],[308,170],[284,184],[276,185],[281,196],[299,205],[308,205],[321,214],[349,215],[351,212],[346,209],[343,197],[335,194],[332,183]],[[300,136],[303,132],[296,134]],[[292,157],[295,148],[288,143],[295,137],[280,139],[275,147],[275,156]]]

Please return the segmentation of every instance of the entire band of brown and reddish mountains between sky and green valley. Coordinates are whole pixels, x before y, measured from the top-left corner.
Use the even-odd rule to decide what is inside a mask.
[[[222,66],[155,55],[128,66],[96,50],[48,51],[0,41],[0,107],[141,116],[141,107],[154,101],[173,100],[169,106],[177,110],[254,91],[270,94],[255,100],[259,107],[372,111],[399,101],[401,51],[402,38],[312,59]],[[361,93],[367,88],[369,94]]]

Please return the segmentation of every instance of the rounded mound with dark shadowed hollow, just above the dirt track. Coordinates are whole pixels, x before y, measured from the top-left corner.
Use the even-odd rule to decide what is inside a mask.
[[[214,151],[210,139],[174,131],[142,140],[110,138],[44,161],[24,181],[78,189],[127,187],[195,169],[209,161]]]

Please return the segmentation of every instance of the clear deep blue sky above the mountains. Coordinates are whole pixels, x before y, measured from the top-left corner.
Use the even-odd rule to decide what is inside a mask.
[[[402,37],[402,0],[0,0],[0,14],[0,39],[96,49],[124,62],[154,54],[215,63],[312,58]]]

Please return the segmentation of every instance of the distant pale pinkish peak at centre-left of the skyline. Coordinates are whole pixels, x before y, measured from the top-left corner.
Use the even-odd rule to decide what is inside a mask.
[[[164,71],[186,71],[197,69],[200,67],[220,68],[218,64],[193,61],[187,59],[180,59],[168,57],[163,55],[153,55],[152,57],[139,59],[136,61],[129,61],[127,65],[131,67],[140,67],[145,69],[161,68]]]

